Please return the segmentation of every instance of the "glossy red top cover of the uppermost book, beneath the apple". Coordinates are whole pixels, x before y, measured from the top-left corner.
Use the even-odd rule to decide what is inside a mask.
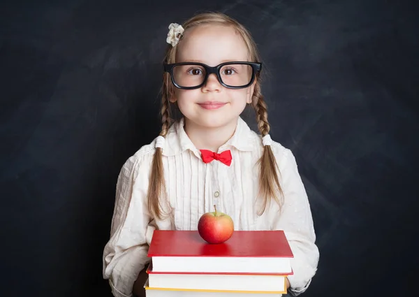
[[[234,231],[220,244],[209,244],[198,231],[155,230],[148,252],[156,256],[293,257],[282,230]]]

